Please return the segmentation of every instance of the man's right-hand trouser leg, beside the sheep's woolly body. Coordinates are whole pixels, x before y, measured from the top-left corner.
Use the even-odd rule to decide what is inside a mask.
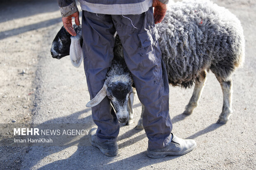
[[[143,127],[149,148],[163,148],[171,140],[172,123],[168,77],[161,62],[152,8],[140,15],[112,17],[138,97],[145,106]]]

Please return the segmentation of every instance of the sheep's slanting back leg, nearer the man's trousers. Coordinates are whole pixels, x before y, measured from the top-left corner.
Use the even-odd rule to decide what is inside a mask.
[[[204,88],[204,83],[206,82],[206,71],[202,71],[198,76],[199,81],[195,82],[194,91],[192,97],[190,98],[190,102],[187,104],[185,111],[183,114],[192,114],[195,107],[197,107],[198,100],[201,96],[201,92]]]

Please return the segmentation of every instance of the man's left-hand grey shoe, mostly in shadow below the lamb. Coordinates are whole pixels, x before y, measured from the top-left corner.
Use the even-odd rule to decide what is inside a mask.
[[[92,128],[89,132],[89,140],[92,146],[100,149],[107,156],[116,156],[118,153],[117,142],[100,142],[96,136],[97,128]]]

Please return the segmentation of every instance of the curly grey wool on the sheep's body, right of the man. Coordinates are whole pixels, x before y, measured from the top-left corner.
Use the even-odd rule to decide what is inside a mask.
[[[170,5],[156,25],[169,83],[188,87],[202,70],[228,79],[244,60],[244,35],[237,17],[209,0]]]

